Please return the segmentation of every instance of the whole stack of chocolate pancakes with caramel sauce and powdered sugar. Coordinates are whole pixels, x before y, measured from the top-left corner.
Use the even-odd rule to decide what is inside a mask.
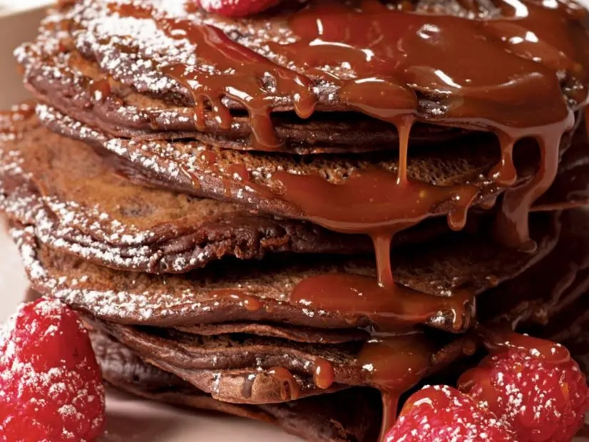
[[[1,208],[106,381],[377,441],[512,327],[589,349],[573,2],[62,1],[16,50]]]

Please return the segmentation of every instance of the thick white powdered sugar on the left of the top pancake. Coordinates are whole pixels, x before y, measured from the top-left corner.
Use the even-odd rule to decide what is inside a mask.
[[[139,10],[150,11],[152,17],[128,16],[120,14],[119,6],[133,5]],[[279,35],[268,32],[265,26],[260,29],[250,27],[246,23],[237,24],[231,21],[220,21],[214,16],[201,14],[196,9],[186,7],[184,0],[113,0],[113,1],[76,1],[71,7],[62,11],[51,11],[43,22],[40,34],[34,43],[26,43],[15,51],[16,59],[25,68],[25,78],[34,80],[33,83],[54,81],[61,86],[77,85],[75,97],[90,98],[82,92],[83,86],[88,84],[88,77],[76,70],[75,63],[69,63],[71,54],[60,51],[63,43],[72,47],[76,53],[93,60],[102,73],[119,81],[126,86],[133,87],[139,93],[149,93],[152,96],[165,96],[170,93],[183,95],[191,100],[190,93],[174,78],[165,75],[166,66],[184,63],[191,69],[202,71],[210,75],[234,73],[234,68],[219,68],[211,61],[198,58],[199,51],[195,42],[188,37],[168,33],[156,20],[185,19],[195,24],[210,24],[227,34],[230,38],[252,51],[269,58],[284,66],[297,70],[297,66],[290,66],[290,61],[284,56],[272,51],[271,44],[277,41],[292,40],[292,31],[278,30]],[[60,26],[63,23],[73,26]],[[68,28],[68,31],[64,29]],[[289,40],[290,39],[290,40]],[[121,50],[130,48],[130,50]],[[301,71],[301,69],[298,69]],[[260,78],[262,88],[268,99],[277,106],[292,106],[294,97],[285,96],[277,91],[276,79],[270,74]],[[329,77],[324,78],[325,90],[329,87]],[[69,88],[71,91],[73,88]],[[318,90],[318,89],[317,89]],[[222,98],[225,104],[231,100]],[[233,103],[232,106],[235,106]],[[119,111],[127,118],[141,120],[145,117],[133,106],[118,106]],[[174,119],[180,120],[192,114],[192,109],[179,107],[178,111],[172,106],[158,106],[160,118],[158,121]],[[188,117],[190,120],[190,117]]]

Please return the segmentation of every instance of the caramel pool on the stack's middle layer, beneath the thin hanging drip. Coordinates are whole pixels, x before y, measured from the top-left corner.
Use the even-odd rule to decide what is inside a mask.
[[[337,232],[368,235],[392,235],[436,215],[442,205],[452,206],[451,227],[460,228],[478,191],[471,185],[439,186],[411,178],[400,182],[381,169],[354,173],[342,184],[283,171],[273,178],[282,185],[280,198],[297,205],[307,219]]]

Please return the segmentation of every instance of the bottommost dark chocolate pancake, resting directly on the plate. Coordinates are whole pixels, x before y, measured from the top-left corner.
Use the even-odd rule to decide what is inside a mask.
[[[282,404],[228,404],[146,364],[100,332],[92,332],[91,339],[106,381],[138,396],[273,423],[308,441],[371,442],[379,431],[381,399],[371,389],[347,389]]]

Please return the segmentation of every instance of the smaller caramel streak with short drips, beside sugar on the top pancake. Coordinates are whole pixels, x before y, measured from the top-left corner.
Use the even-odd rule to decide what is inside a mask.
[[[232,41],[221,29],[189,19],[158,17],[148,6],[137,4],[111,4],[111,10],[121,16],[153,19],[170,38],[187,40],[195,46],[199,66],[175,63],[163,67],[162,71],[190,91],[198,130],[207,129],[207,103],[220,127],[230,128],[232,116],[223,102],[223,98],[230,98],[250,115],[252,145],[261,150],[277,148],[281,143],[270,118],[273,88],[280,95],[292,98],[294,111],[300,118],[312,115],[316,99],[309,78]],[[201,64],[212,66],[217,72],[211,73]],[[272,79],[265,83],[268,76]]]

